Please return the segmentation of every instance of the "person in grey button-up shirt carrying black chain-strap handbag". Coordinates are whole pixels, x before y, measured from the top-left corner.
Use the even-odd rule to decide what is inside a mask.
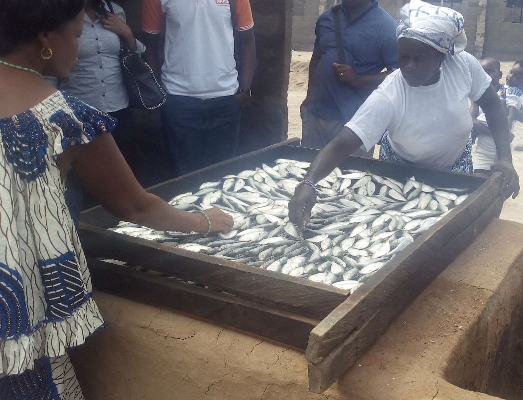
[[[112,14],[108,1],[87,0],[84,30],[79,38],[78,63],[67,78],[58,82],[58,88],[118,120],[112,135],[137,174],[138,149],[135,148],[134,127],[119,54],[122,45],[138,54],[145,51],[145,46],[134,39],[122,7],[111,2],[115,11]]]

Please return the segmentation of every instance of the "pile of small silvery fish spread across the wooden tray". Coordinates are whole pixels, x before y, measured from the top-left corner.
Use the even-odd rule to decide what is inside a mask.
[[[438,188],[365,171],[336,168],[317,183],[303,232],[289,222],[289,200],[310,163],[276,160],[227,175],[169,204],[187,211],[221,208],[233,230],[201,234],[154,231],[120,222],[113,231],[355,290],[386,262],[467,198],[468,189]]]

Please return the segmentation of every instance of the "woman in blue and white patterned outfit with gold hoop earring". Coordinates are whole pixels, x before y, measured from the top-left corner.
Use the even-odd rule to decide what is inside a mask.
[[[67,348],[103,326],[64,199],[72,170],[121,219],[207,231],[204,215],[146,193],[110,132],[116,121],[42,75],[76,62],[85,0],[0,0],[0,399],[82,399]],[[207,210],[213,231],[233,221]]]

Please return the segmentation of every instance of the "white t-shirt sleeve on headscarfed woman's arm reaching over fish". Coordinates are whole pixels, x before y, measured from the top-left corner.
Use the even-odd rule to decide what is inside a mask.
[[[365,151],[370,151],[380,141],[393,117],[394,108],[389,99],[374,90],[345,126],[358,135]]]

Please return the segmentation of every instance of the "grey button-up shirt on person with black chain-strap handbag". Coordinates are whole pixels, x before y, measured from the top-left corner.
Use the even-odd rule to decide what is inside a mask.
[[[125,22],[123,9],[115,3],[112,6],[115,14]],[[136,44],[136,52],[143,53],[145,46],[138,40]],[[116,33],[104,29],[101,19],[92,21],[86,14],[79,39],[78,63],[59,83],[59,88],[103,112],[127,108],[129,98],[123,84],[120,46]]]

